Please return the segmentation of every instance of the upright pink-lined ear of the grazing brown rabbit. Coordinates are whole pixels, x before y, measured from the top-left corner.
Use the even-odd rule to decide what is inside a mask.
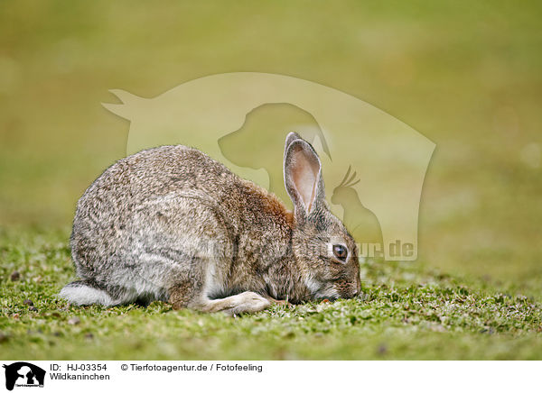
[[[313,146],[299,138],[299,135],[287,144],[292,134],[286,138],[285,187],[294,202],[297,220],[304,221],[325,198],[322,164]]]

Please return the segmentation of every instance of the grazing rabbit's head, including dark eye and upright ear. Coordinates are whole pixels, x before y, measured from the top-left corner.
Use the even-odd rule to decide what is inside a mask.
[[[286,191],[294,202],[292,249],[311,297],[357,296],[356,243],[325,201],[318,154],[297,133],[286,137],[284,173]]]

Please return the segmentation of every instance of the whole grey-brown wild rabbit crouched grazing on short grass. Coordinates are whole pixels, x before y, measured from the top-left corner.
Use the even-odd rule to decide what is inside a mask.
[[[237,315],[357,296],[357,246],[325,201],[316,151],[297,133],[286,137],[283,167],[293,211],[197,149],[118,160],[79,199],[70,247],[80,279],[60,297]]]

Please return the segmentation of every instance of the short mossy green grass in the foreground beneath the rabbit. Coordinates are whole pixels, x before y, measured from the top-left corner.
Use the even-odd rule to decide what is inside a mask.
[[[542,359],[542,304],[424,263],[362,264],[356,299],[232,318],[150,306],[70,306],[67,232],[0,240],[3,359]],[[21,277],[10,276],[19,271]],[[30,299],[33,307],[25,305]]]

